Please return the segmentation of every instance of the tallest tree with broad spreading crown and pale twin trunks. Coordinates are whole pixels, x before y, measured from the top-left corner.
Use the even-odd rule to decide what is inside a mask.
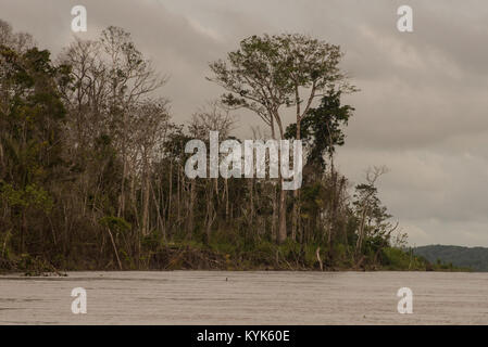
[[[339,46],[313,39],[306,35],[284,34],[251,36],[240,42],[227,60],[210,65],[215,81],[229,93],[223,101],[229,106],[256,113],[275,137],[276,121],[280,139],[285,138],[283,106],[296,107],[296,139],[301,139],[301,121],[315,98],[328,90],[352,91],[347,76],[339,68],[342,53]],[[283,178],[281,178],[283,184]],[[298,191],[295,191],[295,201]],[[287,237],[286,191],[279,198],[278,242]],[[297,231],[298,207],[293,206],[291,237]]]

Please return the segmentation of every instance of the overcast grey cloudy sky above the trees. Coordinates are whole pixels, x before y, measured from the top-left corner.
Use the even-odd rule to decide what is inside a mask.
[[[208,63],[250,36],[309,34],[340,44],[342,68],[361,91],[340,170],[358,183],[386,165],[380,197],[412,245],[488,246],[488,2],[428,0],[0,0],[0,18],[53,54],[73,39],[72,7],[88,12],[97,38],[124,27],[159,70],[175,121],[222,90]],[[397,9],[413,8],[413,33],[397,30]],[[287,119],[288,121],[291,118]],[[260,125],[239,118],[240,133]]]

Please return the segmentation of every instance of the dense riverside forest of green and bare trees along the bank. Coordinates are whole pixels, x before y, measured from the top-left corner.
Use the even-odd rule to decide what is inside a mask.
[[[0,21],[0,270],[431,268],[402,250],[378,198],[386,169],[353,185],[334,166],[354,113],[341,95],[358,92],[341,57],[304,35],[246,38],[202,76],[222,95],[182,125],[124,29],[51,56]],[[302,141],[299,190],[185,175],[189,140],[241,141],[242,108],[265,128],[254,139]]]

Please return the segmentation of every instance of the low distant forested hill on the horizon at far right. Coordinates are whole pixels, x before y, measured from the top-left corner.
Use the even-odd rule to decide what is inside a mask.
[[[413,252],[434,264],[440,259],[445,264],[452,262],[456,267],[488,271],[488,248],[430,245],[416,247]]]

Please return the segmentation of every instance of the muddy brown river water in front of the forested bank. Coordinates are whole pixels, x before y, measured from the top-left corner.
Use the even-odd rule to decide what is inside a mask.
[[[72,290],[87,313],[72,312]],[[397,291],[413,292],[413,313]],[[488,273],[70,272],[0,277],[0,324],[488,324]]]

